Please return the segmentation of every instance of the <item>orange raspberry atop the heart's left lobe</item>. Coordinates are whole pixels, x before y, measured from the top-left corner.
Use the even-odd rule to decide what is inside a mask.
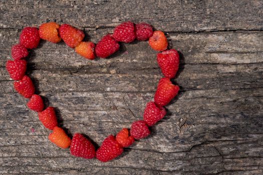
[[[58,29],[59,24],[57,24],[56,22],[43,23],[39,27],[39,36],[41,39],[48,40],[53,43],[58,43],[59,41],[61,41]]]

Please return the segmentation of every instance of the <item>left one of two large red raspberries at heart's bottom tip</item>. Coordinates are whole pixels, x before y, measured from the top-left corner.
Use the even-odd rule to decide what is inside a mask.
[[[96,155],[94,145],[80,133],[75,133],[70,145],[72,155],[83,158],[94,158]]]

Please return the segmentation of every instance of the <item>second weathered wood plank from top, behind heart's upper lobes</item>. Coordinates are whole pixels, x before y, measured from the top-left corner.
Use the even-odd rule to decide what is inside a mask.
[[[96,31],[100,33],[102,30]],[[88,30],[94,42],[97,42],[103,34],[97,35],[95,31]],[[20,30],[1,29],[2,40],[0,41],[1,60],[0,65],[5,65],[5,60],[11,58],[10,46],[18,42]],[[178,49],[184,56],[182,64],[195,63],[257,63],[263,62],[263,34],[260,31],[247,32],[204,32],[204,33],[168,33],[170,45]],[[138,48],[146,48],[139,49]],[[32,51],[30,62],[33,68],[80,68],[90,66],[92,71],[101,66],[113,66],[114,68],[142,69],[157,67],[155,61],[156,52],[147,42],[136,42],[134,44],[122,44],[122,49],[110,59],[96,59],[94,61],[83,59],[69,48],[65,43],[51,44],[41,42],[41,47]],[[59,56],[58,56],[59,55]],[[121,63],[120,66],[118,63]],[[41,64],[41,65],[39,65]],[[116,65],[116,66],[114,66]],[[127,65],[127,66],[125,66]],[[95,67],[93,67],[95,66]],[[90,68],[89,67],[89,68]],[[118,71],[118,69],[116,71]],[[99,69],[100,70],[100,69]]]

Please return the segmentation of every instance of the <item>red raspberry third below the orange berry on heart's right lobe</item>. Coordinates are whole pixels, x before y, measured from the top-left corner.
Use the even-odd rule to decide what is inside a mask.
[[[147,123],[148,126],[154,125],[157,121],[162,119],[166,114],[164,107],[158,107],[153,101],[150,101],[146,104],[143,114],[143,120]]]

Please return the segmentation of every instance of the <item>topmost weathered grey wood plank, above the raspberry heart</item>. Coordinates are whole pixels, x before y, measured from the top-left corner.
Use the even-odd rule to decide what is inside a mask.
[[[146,21],[165,31],[253,30],[262,29],[263,22],[261,0],[9,0],[0,7],[3,28],[22,28],[55,19],[78,27]]]

